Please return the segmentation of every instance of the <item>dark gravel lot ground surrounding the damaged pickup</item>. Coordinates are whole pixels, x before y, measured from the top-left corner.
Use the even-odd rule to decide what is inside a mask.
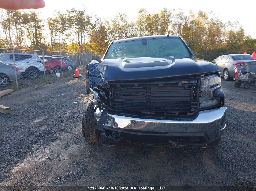
[[[256,185],[256,87],[222,81],[227,130],[212,149],[88,145],[85,80],[66,78],[0,98],[0,186]],[[74,103],[77,102],[77,103]]]

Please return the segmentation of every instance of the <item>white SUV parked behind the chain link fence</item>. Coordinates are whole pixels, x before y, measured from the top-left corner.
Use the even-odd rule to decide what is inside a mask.
[[[42,61],[35,54],[31,53],[15,53],[15,64],[19,68],[23,76],[34,79],[37,78],[40,73],[44,72],[44,65],[40,63]],[[0,54],[0,61],[6,64],[14,64],[12,53]]]

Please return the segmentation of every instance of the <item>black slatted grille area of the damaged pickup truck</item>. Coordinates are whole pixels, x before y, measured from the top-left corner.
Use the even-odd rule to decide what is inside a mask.
[[[119,85],[112,88],[112,111],[192,115],[198,110],[191,84]]]

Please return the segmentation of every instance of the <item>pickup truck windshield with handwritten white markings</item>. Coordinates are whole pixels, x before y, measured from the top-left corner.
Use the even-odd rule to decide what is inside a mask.
[[[190,57],[190,54],[179,38],[158,38],[113,43],[105,59],[163,56],[181,59]]]

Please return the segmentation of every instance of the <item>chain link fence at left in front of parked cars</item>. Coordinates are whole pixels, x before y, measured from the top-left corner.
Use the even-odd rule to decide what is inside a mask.
[[[76,68],[85,71],[98,58],[92,53],[0,48],[0,91],[73,76]]]

